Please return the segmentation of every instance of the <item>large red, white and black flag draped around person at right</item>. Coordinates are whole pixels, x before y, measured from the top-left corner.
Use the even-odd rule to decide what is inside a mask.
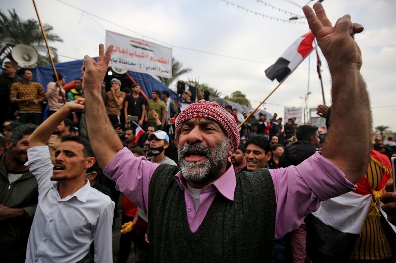
[[[384,170],[374,191],[367,175],[363,176],[356,183],[356,190],[322,202],[316,212],[305,218],[307,253],[313,262],[349,261],[366,218],[374,216],[377,208],[377,215],[384,215],[377,199],[383,193],[392,169],[388,157],[375,150],[371,150],[370,159]],[[396,231],[390,223],[389,227]]]

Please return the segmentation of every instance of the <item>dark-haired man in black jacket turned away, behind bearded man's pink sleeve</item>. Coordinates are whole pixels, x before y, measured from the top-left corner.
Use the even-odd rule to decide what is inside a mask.
[[[285,148],[279,160],[280,167],[296,166],[319,150],[318,127],[301,125],[296,137],[298,141]]]

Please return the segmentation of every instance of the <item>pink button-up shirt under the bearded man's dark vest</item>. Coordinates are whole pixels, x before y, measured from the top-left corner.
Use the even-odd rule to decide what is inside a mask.
[[[123,148],[103,173],[116,181],[116,188],[147,213],[150,180],[158,166],[144,157],[134,157],[131,151]],[[269,172],[276,198],[275,238],[297,229],[307,214],[318,209],[320,201],[356,188],[336,165],[319,152],[297,166]],[[222,176],[202,189],[197,210],[180,172],[175,175],[175,180],[184,191],[187,221],[193,233],[201,225],[217,193],[234,200],[237,181],[232,165]]]

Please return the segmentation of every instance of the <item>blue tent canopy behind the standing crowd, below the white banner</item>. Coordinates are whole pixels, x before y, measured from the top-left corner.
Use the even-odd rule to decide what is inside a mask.
[[[97,60],[97,58],[93,58]],[[75,61],[69,61],[69,62],[62,62],[62,63],[56,63],[55,68],[57,72],[62,73],[62,75],[66,78],[66,83],[73,81],[75,78],[81,78],[83,75],[80,72],[80,68],[83,64],[83,60],[75,60]],[[47,84],[49,82],[53,82],[52,74],[52,66],[45,65],[45,66],[39,66],[36,68],[32,69],[33,73],[33,81],[39,82],[44,89],[46,89]],[[142,91],[144,94],[146,94],[148,99],[151,99],[151,93],[153,90],[157,89],[159,91],[164,91],[167,90],[170,93],[171,98],[177,97],[177,94],[169,89],[167,86],[159,82],[157,79],[155,79],[153,76],[145,73],[138,73],[138,72],[132,72],[128,71],[127,72],[133,80],[140,84],[142,87]],[[122,82],[122,87],[130,87],[131,80],[126,76],[126,74],[123,75],[115,75],[113,74],[112,76],[106,75],[105,79],[112,79],[112,78],[118,78]],[[106,88],[110,88],[110,81],[106,81]]]

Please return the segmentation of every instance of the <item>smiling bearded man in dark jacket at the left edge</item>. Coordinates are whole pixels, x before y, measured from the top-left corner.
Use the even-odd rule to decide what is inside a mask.
[[[30,226],[36,212],[38,188],[29,172],[28,138],[36,125],[21,125],[6,140],[0,156],[0,255],[2,263],[23,263]]]

